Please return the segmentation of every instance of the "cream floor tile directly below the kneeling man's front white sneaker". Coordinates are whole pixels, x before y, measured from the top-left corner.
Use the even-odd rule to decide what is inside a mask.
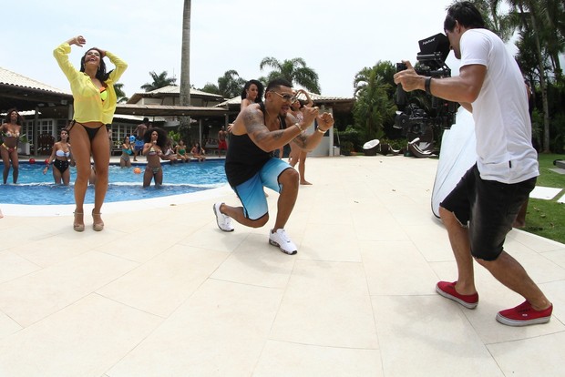
[[[296,260],[272,339],[375,349],[375,322],[363,266]]]

